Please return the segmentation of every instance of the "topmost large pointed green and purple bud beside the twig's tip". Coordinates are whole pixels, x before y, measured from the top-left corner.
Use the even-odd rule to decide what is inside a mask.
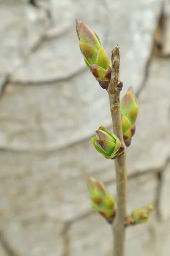
[[[98,35],[82,21],[75,20],[76,32],[84,61],[103,89],[107,89],[111,76],[111,62]]]

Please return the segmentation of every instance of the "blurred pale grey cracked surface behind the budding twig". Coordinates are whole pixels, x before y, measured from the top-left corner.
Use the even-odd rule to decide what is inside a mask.
[[[123,95],[138,96],[128,149],[126,256],[170,255],[170,0],[0,0],[0,256],[111,256],[89,175],[115,195],[113,161],[90,138],[112,129],[108,96],[84,64],[75,18],[108,55],[121,47]]]

